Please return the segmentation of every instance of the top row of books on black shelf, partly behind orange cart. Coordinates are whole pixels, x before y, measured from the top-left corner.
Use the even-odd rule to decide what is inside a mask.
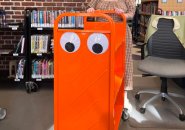
[[[33,10],[31,13],[31,28],[34,30],[49,30],[54,26],[54,19],[57,18],[59,14],[64,13],[65,11],[42,11],[42,10]],[[74,12],[73,10],[71,12]],[[58,24],[59,28],[72,28],[80,29],[83,28],[83,17],[74,17],[68,16],[64,17],[61,22]]]

